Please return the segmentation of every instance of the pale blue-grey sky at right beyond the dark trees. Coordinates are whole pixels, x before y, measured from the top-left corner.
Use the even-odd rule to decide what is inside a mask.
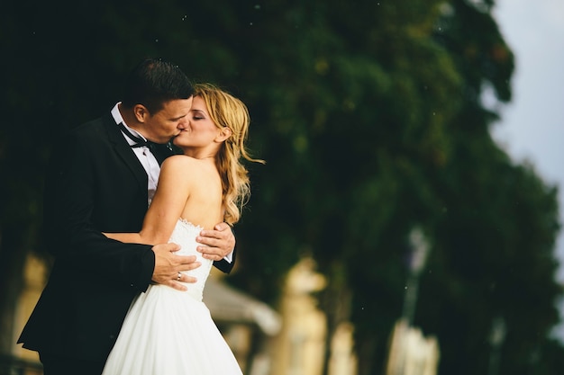
[[[517,162],[532,162],[543,180],[559,185],[564,223],[564,1],[496,0],[494,15],[515,54],[513,100],[494,137]],[[556,253],[564,283],[564,230]],[[560,304],[564,317],[564,300]],[[564,324],[558,329],[564,342]]]

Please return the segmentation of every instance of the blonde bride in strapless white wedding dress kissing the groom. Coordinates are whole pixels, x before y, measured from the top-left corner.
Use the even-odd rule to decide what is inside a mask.
[[[213,261],[196,251],[196,237],[217,222],[232,225],[250,193],[241,157],[249,128],[247,107],[214,85],[196,85],[185,129],[174,138],[184,155],[161,167],[159,187],[139,233],[106,233],[122,242],[174,242],[196,254],[186,290],[150,285],[132,302],[103,375],[241,374],[235,357],[202,302]],[[178,273],[178,279],[180,273]]]

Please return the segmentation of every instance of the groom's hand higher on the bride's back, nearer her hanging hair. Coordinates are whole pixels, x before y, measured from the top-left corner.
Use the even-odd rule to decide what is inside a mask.
[[[235,249],[235,236],[231,227],[225,223],[216,224],[213,230],[202,230],[196,241],[204,246],[198,246],[197,251],[205,259],[221,261]]]

